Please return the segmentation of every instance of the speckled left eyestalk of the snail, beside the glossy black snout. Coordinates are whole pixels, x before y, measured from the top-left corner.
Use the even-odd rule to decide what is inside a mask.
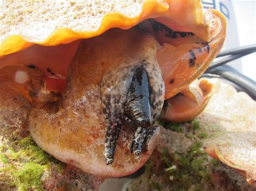
[[[140,63],[142,62],[137,62],[137,65]],[[120,63],[115,68],[107,70],[100,83],[102,108],[106,120],[104,159],[107,165],[112,164],[114,160],[114,151],[123,124],[124,105],[137,67],[136,62],[127,63],[129,67],[124,65],[125,63]]]

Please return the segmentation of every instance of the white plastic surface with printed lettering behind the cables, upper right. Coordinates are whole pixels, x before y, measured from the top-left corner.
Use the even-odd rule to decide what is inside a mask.
[[[217,9],[227,18],[223,50],[255,44],[255,0],[202,0],[204,8]],[[256,81],[256,53],[229,62],[239,72]]]

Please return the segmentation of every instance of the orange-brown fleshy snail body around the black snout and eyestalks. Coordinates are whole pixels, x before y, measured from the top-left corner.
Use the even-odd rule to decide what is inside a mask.
[[[138,126],[124,117],[122,123],[118,117],[124,115],[129,87],[127,79],[132,78],[129,72],[144,63],[152,92],[152,122],[157,118],[163,104],[158,97],[164,99],[164,84],[156,61],[156,49],[153,37],[136,30],[113,29],[99,37],[83,40],[69,67],[68,84],[59,101],[45,103],[29,115],[30,132],[38,146],[55,158],[93,175],[119,177],[142,167],[157,142],[158,128],[147,132],[149,139],[144,140],[147,149],[136,156],[130,152],[130,146]],[[120,68],[127,73],[113,72]],[[112,88],[111,91],[108,88]],[[103,151],[107,122],[102,100],[113,103],[118,98],[117,103],[104,109],[116,112],[112,112],[115,114],[112,116],[123,124],[114,153],[115,161],[106,166]]]

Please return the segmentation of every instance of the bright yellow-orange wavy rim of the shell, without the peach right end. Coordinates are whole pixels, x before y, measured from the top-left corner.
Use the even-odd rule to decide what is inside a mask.
[[[159,17],[169,8],[166,2],[160,1],[145,1],[142,6],[142,11],[135,17],[127,17],[119,12],[110,12],[102,18],[99,28],[92,31],[74,31],[69,27],[58,27],[51,31],[48,37],[40,41],[32,40],[31,37],[25,37],[21,34],[12,34],[0,41],[0,58],[3,55],[21,51],[33,44],[43,46],[56,46],[59,44],[68,44],[77,39],[87,39],[99,36],[105,31],[117,27],[120,29],[130,29],[137,25],[140,21],[149,17]],[[1,39],[1,38],[0,38]]]

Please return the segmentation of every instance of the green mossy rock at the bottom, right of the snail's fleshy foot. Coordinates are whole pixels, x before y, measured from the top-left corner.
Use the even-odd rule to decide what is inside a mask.
[[[161,142],[146,162],[145,173],[133,180],[128,190],[214,190],[226,186],[250,190],[245,180],[237,181],[244,178],[231,176],[232,169],[204,152],[203,142],[211,131],[199,121],[159,124],[164,126]],[[221,185],[216,174],[225,175],[226,185]]]

